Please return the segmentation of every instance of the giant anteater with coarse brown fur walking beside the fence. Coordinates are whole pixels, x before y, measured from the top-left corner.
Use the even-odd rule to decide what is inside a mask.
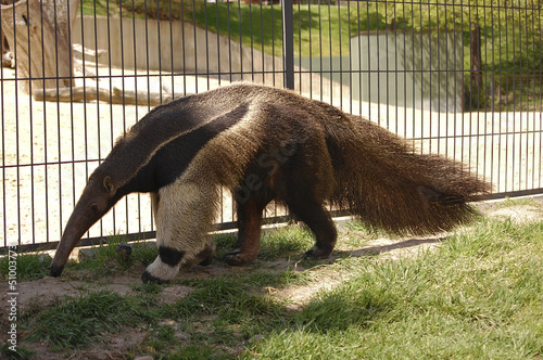
[[[108,206],[99,215],[129,192],[153,194],[160,256],[143,280],[156,282],[175,277],[184,261],[209,262],[205,234],[219,187],[230,189],[237,203],[238,245],[227,255],[232,265],[257,256],[262,213],[272,200],[314,232],[307,255],[327,257],[337,234],[326,204],[394,233],[429,234],[471,219],[467,201],[491,189],[462,163],[420,154],[367,119],[251,83],[157,107],[117,142],[91,180],[66,226],[55,274],[73,248],[63,242],[75,245],[96,221],[77,219],[100,197],[102,183]]]

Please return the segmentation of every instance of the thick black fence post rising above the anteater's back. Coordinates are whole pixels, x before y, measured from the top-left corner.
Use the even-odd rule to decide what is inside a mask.
[[[294,89],[294,16],[292,0],[282,0],[282,64],[283,87]]]

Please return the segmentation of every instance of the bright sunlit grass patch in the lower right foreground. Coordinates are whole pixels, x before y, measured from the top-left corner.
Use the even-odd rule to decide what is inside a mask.
[[[494,358],[543,352],[543,223],[484,221],[438,252],[367,261],[296,326],[260,342],[266,359]],[[294,346],[295,345],[295,346]]]

